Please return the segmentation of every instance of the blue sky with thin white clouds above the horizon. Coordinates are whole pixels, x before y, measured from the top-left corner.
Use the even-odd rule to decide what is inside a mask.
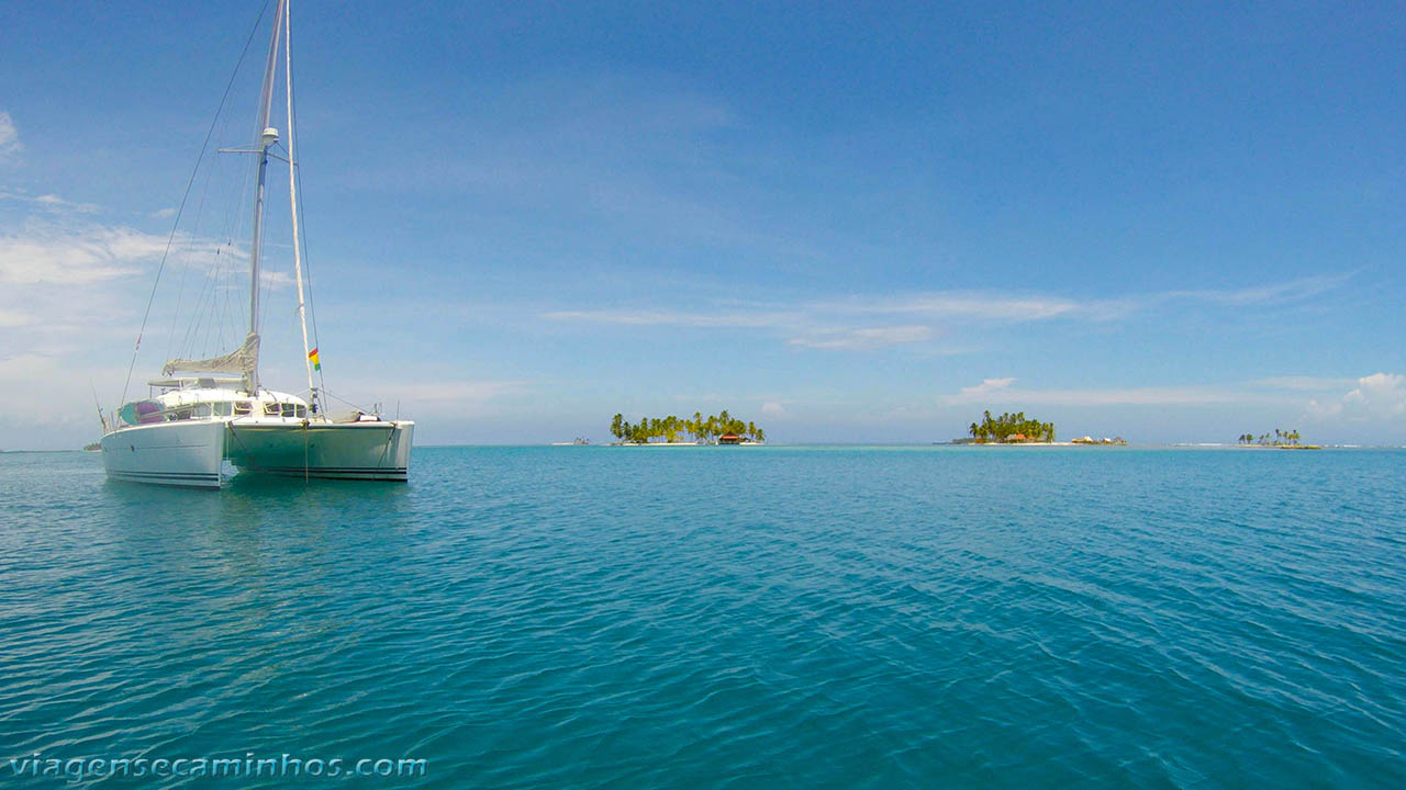
[[[118,399],[259,7],[0,7],[0,447]],[[782,441],[991,408],[1403,443],[1403,11],[299,0],[328,387],[420,443],[723,408]],[[264,381],[297,389],[285,283]]]

